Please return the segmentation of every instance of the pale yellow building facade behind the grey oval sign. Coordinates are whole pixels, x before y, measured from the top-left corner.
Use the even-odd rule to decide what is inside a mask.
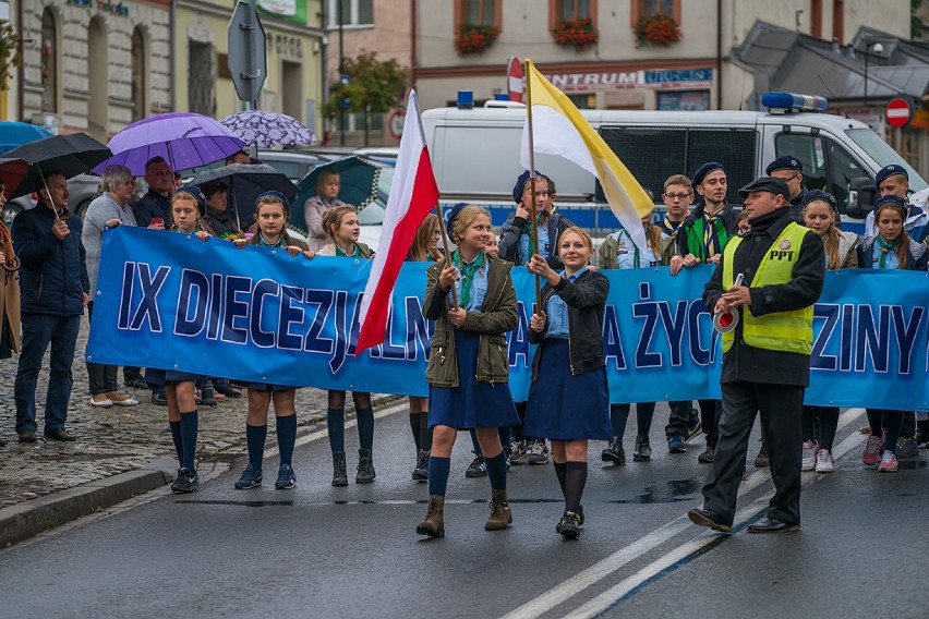
[[[217,119],[245,109],[229,72],[228,32],[234,7],[234,0],[177,0],[174,109]],[[256,0],[256,8],[267,58],[258,109],[291,116],[319,135],[321,0]]]

